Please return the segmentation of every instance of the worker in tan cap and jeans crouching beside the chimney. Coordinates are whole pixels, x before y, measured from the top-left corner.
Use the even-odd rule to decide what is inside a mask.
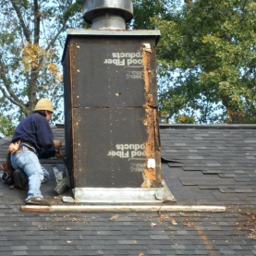
[[[16,187],[26,189],[28,186],[26,204],[51,204],[43,198],[41,192],[43,168],[39,159],[63,157],[59,151],[62,143],[60,140],[54,140],[49,125],[53,113],[54,108],[49,99],[39,100],[30,116],[26,116],[18,124],[12,137],[11,145],[17,145],[17,149],[10,149],[11,165],[15,169],[13,178]]]

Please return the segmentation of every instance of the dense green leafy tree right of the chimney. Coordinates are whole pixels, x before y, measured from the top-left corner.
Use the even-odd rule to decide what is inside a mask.
[[[194,1],[153,18],[162,120],[256,123],[256,3]]]

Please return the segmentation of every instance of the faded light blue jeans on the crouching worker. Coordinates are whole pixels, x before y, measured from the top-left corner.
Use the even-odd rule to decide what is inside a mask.
[[[23,148],[22,151],[11,154],[11,164],[16,170],[24,171],[29,178],[29,191],[26,200],[34,197],[43,198],[40,190],[43,181],[43,170],[37,155]]]

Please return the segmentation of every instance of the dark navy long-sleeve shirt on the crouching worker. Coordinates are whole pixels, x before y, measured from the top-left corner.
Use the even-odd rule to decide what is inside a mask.
[[[29,142],[38,153],[39,158],[55,156],[53,131],[47,119],[38,113],[30,114],[18,124],[12,142],[17,140]]]

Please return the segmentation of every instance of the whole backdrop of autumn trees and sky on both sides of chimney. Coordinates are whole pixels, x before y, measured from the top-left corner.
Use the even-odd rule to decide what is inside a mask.
[[[63,115],[61,57],[67,28],[85,28],[84,0],[0,0],[0,133],[11,134],[37,100]],[[184,2],[186,4],[184,4]],[[161,30],[163,122],[256,123],[254,0],[136,0],[129,29]]]

